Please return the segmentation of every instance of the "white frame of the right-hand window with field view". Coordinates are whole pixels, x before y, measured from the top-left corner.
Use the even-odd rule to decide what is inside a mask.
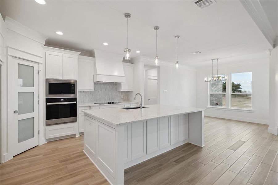
[[[247,71],[247,72],[251,72],[251,82],[252,82],[252,76],[253,76],[253,72],[252,71]],[[233,72],[230,73],[230,80],[229,80],[229,107],[227,107],[229,110],[242,110],[247,111],[247,112],[252,112],[253,111],[253,96],[252,96],[252,92],[253,92],[253,85],[251,85],[251,93],[250,92],[232,92],[232,74],[237,74],[237,73],[246,73],[246,72]],[[227,83],[226,83],[227,85]],[[226,92],[227,92],[227,86],[226,86]],[[240,108],[240,107],[232,107],[232,95],[233,94],[238,94],[238,95],[251,95],[251,108]]]

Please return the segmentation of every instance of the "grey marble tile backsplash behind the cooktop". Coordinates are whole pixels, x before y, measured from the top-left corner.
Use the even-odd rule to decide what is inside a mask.
[[[114,83],[95,83],[94,91],[78,91],[79,104],[108,101],[130,101],[129,91],[117,91]]]

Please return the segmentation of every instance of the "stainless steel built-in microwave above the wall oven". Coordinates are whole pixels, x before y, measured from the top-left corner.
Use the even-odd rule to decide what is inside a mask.
[[[76,80],[46,79],[46,97],[77,97]]]

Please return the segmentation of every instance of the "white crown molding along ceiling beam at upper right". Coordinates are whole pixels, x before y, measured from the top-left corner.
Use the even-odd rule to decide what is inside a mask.
[[[241,4],[253,19],[257,27],[263,33],[264,37],[268,40],[268,43],[273,48],[276,39],[276,34],[265,14],[262,5],[259,0],[240,0]],[[277,44],[277,43],[276,43]]]

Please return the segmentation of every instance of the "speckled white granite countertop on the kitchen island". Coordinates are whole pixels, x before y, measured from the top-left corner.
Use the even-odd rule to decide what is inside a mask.
[[[95,110],[82,110],[85,114],[96,117],[102,121],[108,122],[112,125],[120,125],[132,123],[136,121],[146,121],[156,119],[159,117],[169,117],[174,115],[193,113],[205,109],[193,107],[181,107],[173,105],[146,105],[147,108],[143,109],[121,109],[121,108],[108,108],[108,109],[95,109]]]

